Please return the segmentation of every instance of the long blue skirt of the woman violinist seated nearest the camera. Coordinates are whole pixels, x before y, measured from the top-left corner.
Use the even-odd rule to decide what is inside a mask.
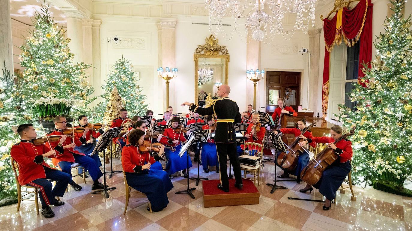
[[[146,194],[153,212],[161,211],[169,204],[166,193],[173,189],[173,184],[166,172],[152,169],[142,173],[126,172],[126,180],[130,187]]]

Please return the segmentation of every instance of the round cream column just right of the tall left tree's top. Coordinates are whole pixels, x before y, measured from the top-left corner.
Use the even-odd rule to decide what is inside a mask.
[[[75,54],[73,61],[80,63],[83,61],[83,23],[84,15],[77,11],[64,12],[67,20],[67,37],[70,38],[70,52]]]

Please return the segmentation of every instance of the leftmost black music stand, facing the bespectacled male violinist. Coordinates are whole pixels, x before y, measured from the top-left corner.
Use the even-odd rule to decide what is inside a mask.
[[[94,147],[94,150],[90,153],[90,156],[93,156],[94,154],[98,155],[101,151],[103,151],[103,185],[106,187],[106,148],[109,146],[110,143],[110,150],[111,145],[112,145],[112,139],[117,137],[120,133],[120,130],[122,130],[122,127],[113,127],[110,128],[109,130],[105,131],[100,137],[99,141],[96,144],[96,147]],[[110,161],[112,163],[112,161]],[[122,171],[115,171],[115,172],[122,172]],[[111,170],[111,173],[113,173],[113,168]],[[111,175],[110,175],[111,176]],[[110,177],[109,177],[110,178]],[[111,189],[116,189],[116,187],[111,187],[111,188],[104,188],[101,190],[96,190],[92,192],[91,194],[96,194],[96,193],[101,193],[103,192],[106,198],[109,198],[108,191]]]

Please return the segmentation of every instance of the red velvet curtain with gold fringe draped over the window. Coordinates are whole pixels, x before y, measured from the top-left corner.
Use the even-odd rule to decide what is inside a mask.
[[[372,60],[372,6],[370,0],[361,0],[358,5],[351,10],[342,9],[342,18],[339,13],[335,14],[332,19],[323,20],[323,32],[325,36],[325,65],[323,67],[323,85],[322,85],[322,113],[326,117],[329,101],[329,66],[330,52],[335,45],[342,42],[341,36],[348,47],[351,47],[360,41],[360,68],[362,63],[368,64]],[[342,26],[338,27],[342,20]],[[368,64],[370,65],[370,64]],[[365,76],[361,69],[359,76]]]

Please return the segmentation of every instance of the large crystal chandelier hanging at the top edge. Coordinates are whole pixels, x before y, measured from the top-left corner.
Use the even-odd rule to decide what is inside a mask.
[[[262,41],[271,37],[273,39],[276,34],[290,39],[298,30],[307,33],[309,24],[315,24],[315,3],[316,0],[205,0],[205,7],[209,13],[211,33],[223,31],[223,19],[230,17],[232,29],[229,33],[223,31],[225,35],[229,35],[229,38],[225,37],[229,40],[234,33],[242,33],[239,20],[246,19],[243,31],[251,31],[253,40]],[[268,6],[267,11],[264,10],[265,5]],[[296,14],[296,21],[290,32],[284,29],[282,23],[288,13]],[[213,25],[216,26],[213,28]]]

